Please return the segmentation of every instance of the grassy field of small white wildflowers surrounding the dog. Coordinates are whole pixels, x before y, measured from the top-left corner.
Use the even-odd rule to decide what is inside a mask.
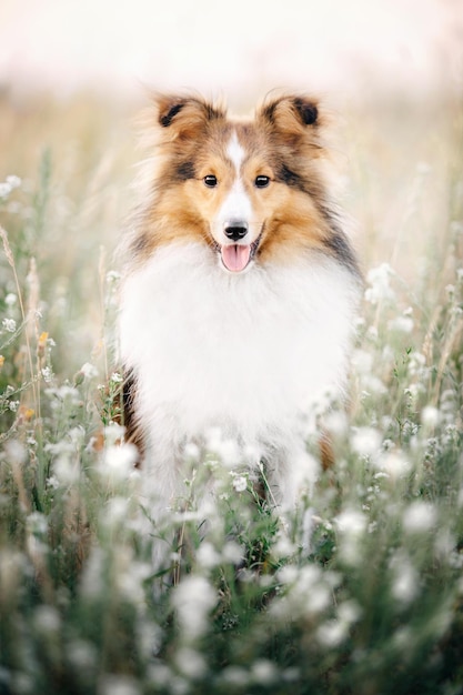
[[[463,693],[463,104],[345,108],[365,293],[335,465],[279,520],[190,452],[173,583],[117,445],[129,115],[0,95],[0,695]]]

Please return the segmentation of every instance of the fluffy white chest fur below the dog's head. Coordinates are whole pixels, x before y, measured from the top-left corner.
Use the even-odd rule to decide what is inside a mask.
[[[124,282],[120,314],[159,455],[211,426],[250,444],[294,436],[301,411],[343,385],[356,294],[321,255],[230,275],[202,244],[159,249]]]

